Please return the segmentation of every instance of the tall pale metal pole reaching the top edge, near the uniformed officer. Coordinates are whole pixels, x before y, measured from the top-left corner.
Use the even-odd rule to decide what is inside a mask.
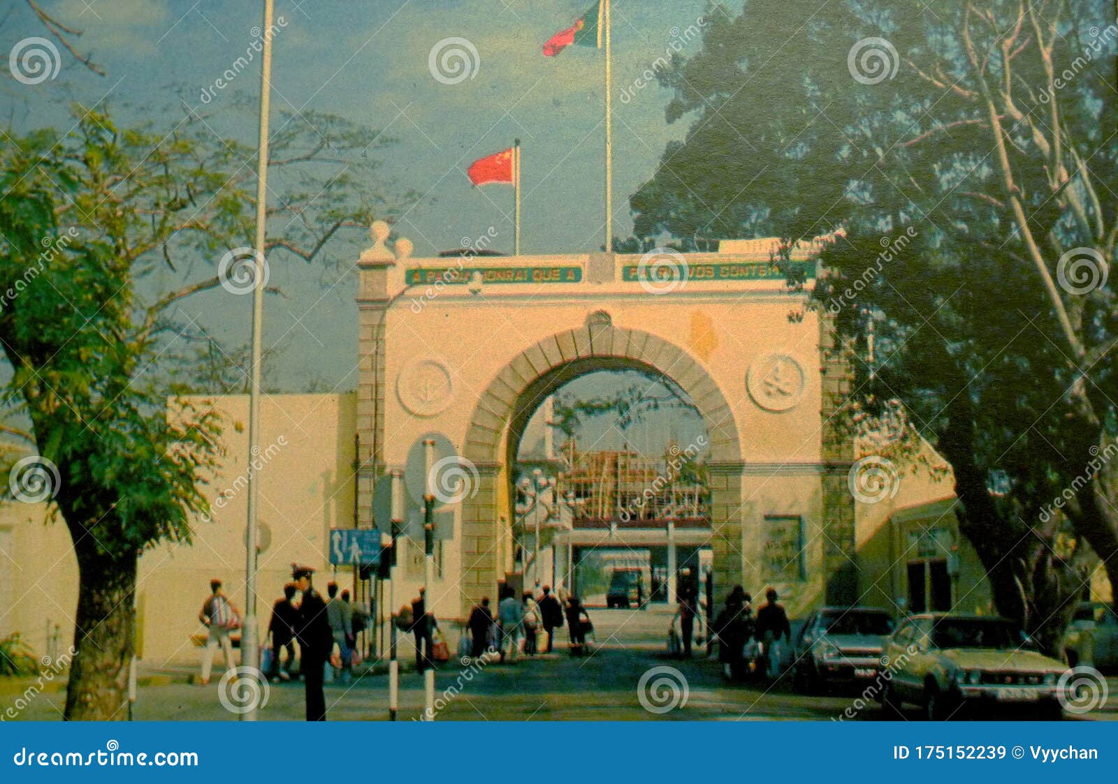
[[[264,0],[264,55],[260,60],[259,153],[256,162],[256,242],[253,246],[253,371],[248,393],[248,527],[245,535],[245,623],[240,632],[240,665],[259,673],[260,648],[256,629],[256,513],[260,484],[253,458],[260,443],[260,358],[264,333],[264,238],[267,220],[268,105],[272,94],[272,10]],[[263,676],[259,676],[263,678]],[[240,715],[241,721],[256,720],[256,705]]]

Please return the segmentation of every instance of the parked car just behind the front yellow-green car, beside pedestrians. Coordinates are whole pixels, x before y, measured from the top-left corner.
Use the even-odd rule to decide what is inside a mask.
[[[892,615],[875,608],[821,608],[807,616],[793,650],[799,691],[872,680],[881,669]]]

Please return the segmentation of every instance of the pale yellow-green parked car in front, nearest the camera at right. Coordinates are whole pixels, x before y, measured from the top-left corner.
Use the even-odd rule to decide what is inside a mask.
[[[906,619],[885,642],[891,677],[884,707],[918,705],[928,719],[965,705],[1031,705],[1062,718],[1060,677],[1068,667],[1038,650],[1015,622],[994,615],[926,613]]]

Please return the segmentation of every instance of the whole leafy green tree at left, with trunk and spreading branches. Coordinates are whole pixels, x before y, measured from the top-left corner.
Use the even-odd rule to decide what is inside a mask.
[[[250,278],[219,260],[250,245],[255,151],[197,114],[169,128],[120,128],[82,106],[74,115],[65,134],[6,133],[0,344],[9,412],[29,422],[38,451],[35,474],[13,474],[13,486],[46,484],[77,555],[65,715],[121,719],[136,557],[190,539],[191,516],[207,510],[200,485],[219,457],[216,413],[182,401],[168,412],[168,395],[183,391],[168,370],[195,345],[180,340],[189,325],[174,308],[221,288],[247,307],[235,291]],[[391,140],[331,115],[276,127],[269,266],[318,261],[373,210],[390,214],[376,154]]]

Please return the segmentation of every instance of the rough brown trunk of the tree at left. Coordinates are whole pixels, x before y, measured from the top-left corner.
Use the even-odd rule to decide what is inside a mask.
[[[136,583],[134,556],[112,558],[97,552],[93,533],[75,534],[78,563],[77,621],[69,683],[67,720],[123,721],[129,718],[129,668],[134,650],[132,596]]]

